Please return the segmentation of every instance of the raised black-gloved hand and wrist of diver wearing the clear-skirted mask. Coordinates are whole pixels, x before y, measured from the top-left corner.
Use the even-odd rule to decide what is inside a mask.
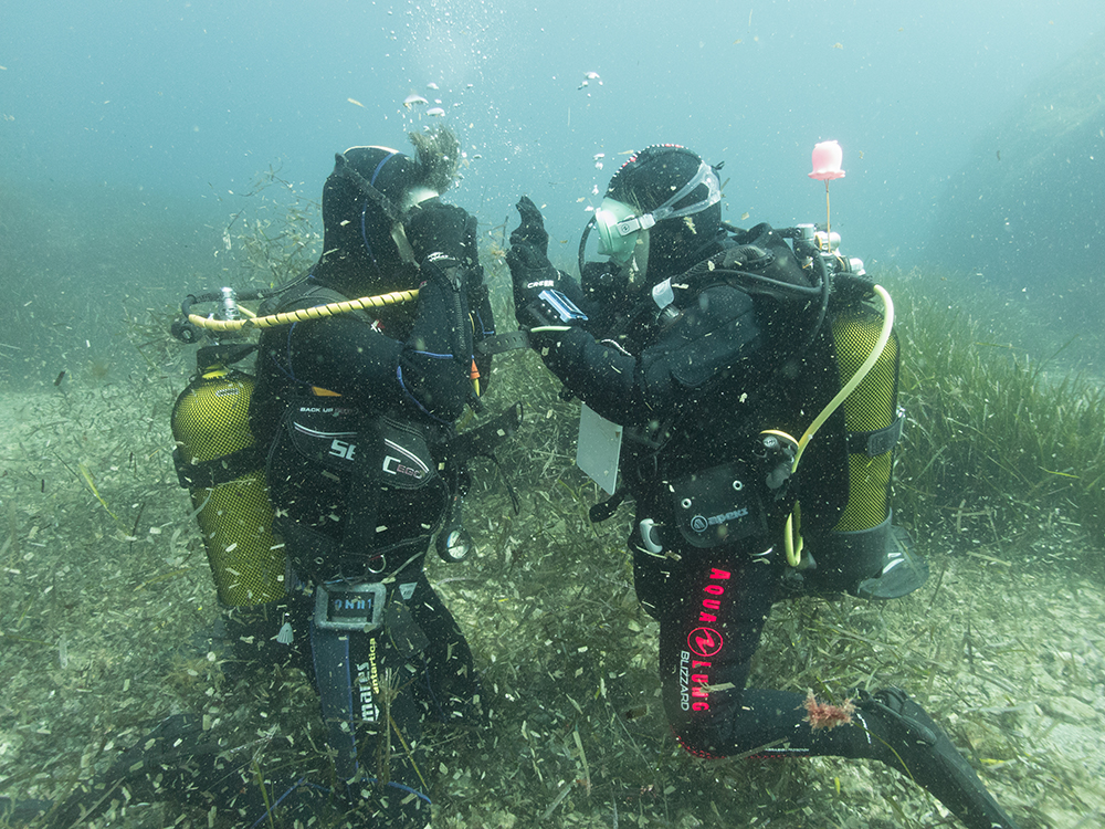
[[[514,282],[514,315],[523,328],[577,325],[586,322],[580,311],[579,287],[549,262],[549,234],[541,211],[523,196],[517,203],[522,222],[511,233],[506,264]]]

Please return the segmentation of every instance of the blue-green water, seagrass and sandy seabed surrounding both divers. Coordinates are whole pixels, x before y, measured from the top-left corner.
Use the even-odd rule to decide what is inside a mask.
[[[779,602],[753,679],[828,699],[907,688],[1022,827],[1105,822],[1105,7],[673,8],[6,10],[0,796],[63,798],[179,711],[201,712],[259,781],[325,765],[305,676],[232,679],[197,638],[219,609],[171,461],[196,349],[169,325],[190,293],[280,284],[317,259],[336,151],[408,149],[408,132],[446,123],[464,151],[446,199],[478,218],[511,327],[519,195],[573,270],[588,211],[634,149],[725,161],[725,220],[789,227],[825,220],[806,174],[817,141],[840,140],[832,229],[894,296],[908,417],[895,513],[933,577],[888,605]],[[950,821],[873,764],[677,749],[630,511],[590,522],[601,493],[573,463],[578,402],[558,392],[535,355],[497,358],[487,412],[523,400],[526,424],[505,474],[475,470],[476,554],[431,565],[493,700],[485,732],[431,736],[434,826]],[[126,804],[97,825],[209,816]]]

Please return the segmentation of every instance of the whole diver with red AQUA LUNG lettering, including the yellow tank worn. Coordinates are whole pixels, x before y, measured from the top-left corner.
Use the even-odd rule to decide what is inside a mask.
[[[582,401],[580,447],[620,476],[592,520],[635,501],[635,589],[660,622],[675,738],[704,758],[878,759],[971,829],[1010,829],[901,689],[834,706],[746,688],[776,598],[892,599],[928,570],[887,504],[902,426],[888,296],[878,313],[882,288],[813,225],[724,223],[719,167],[676,145],[631,156],[585,230],[579,283],[549,262],[528,197],[507,253],[519,327]],[[592,229],[606,261],[583,261]],[[621,437],[587,433],[590,413]]]

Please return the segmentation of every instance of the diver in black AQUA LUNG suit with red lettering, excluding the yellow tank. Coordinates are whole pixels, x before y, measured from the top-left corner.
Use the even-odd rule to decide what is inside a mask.
[[[810,345],[803,329],[817,323],[815,301],[787,303],[778,291],[711,280],[715,269],[751,271],[757,262],[772,262],[761,273],[810,284],[767,225],[747,232],[723,227],[719,198],[714,170],[695,154],[650,147],[613,177],[596,211],[599,250],[610,261],[581,265],[581,285],[549,263],[548,234],[527,197],[518,203],[522,223],[507,254],[516,314],[530,345],[567,391],[625,427],[620,474],[636,503],[630,536],[635,586],[660,621],[663,699],[675,737],[707,758],[880,759],[971,829],[1013,827],[940,727],[899,689],[860,693],[850,727],[813,730],[801,695],[746,688],[765,620],[788,578],[788,490],[801,485],[803,507],[815,502],[819,487],[840,490],[846,478],[834,476],[832,464],[846,453],[834,454],[842,430],[831,427],[828,439],[815,441],[829,449],[811,444],[798,480],[788,481],[792,455],[766,451],[761,430],[809,422],[839,381],[823,381],[830,367],[817,357],[831,347],[817,342],[801,351]],[[541,295],[548,291],[559,292],[560,301]],[[670,291],[674,301],[662,312],[650,291]],[[564,298],[586,318],[570,305],[562,313]],[[717,501],[724,529],[713,541],[691,543],[695,531],[678,513],[693,500],[708,503],[718,487],[728,493]],[[743,491],[734,499],[733,490]],[[831,506],[832,493],[822,497]],[[877,580],[880,569],[876,563],[852,575],[854,586]]]

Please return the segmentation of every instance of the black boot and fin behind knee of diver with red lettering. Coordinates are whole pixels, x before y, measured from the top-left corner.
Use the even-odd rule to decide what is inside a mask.
[[[970,829],[1017,829],[925,710],[899,688],[861,693],[856,717],[871,755],[907,775]]]

